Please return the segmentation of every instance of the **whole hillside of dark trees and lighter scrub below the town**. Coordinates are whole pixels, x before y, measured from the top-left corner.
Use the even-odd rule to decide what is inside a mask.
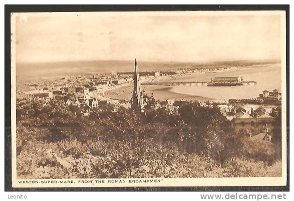
[[[65,97],[49,104],[17,102],[18,176],[280,175],[278,143],[233,133],[217,107],[189,102],[170,114],[167,107],[156,108],[154,98],[146,98],[149,107],[145,115],[124,107],[116,112],[105,107],[100,119],[84,116],[83,108],[67,106]],[[274,137],[278,141],[278,135]]]

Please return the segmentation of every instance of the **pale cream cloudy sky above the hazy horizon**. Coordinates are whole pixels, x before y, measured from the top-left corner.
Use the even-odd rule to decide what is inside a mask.
[[[16,19],[16,58],[17,62],[279,59],[280,29],[279,15],[21,15]]]

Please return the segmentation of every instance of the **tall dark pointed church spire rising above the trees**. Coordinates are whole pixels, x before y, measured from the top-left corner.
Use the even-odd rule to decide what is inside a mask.
[[[137,67],[137,59],[135,58],[135,71],[134,71],[134,88],[133,88],[133,94],[131,98],[131,108],[133,108],[136,111],[141,111],[141,91],[140,91],[140,82],[139,82],[139,72]]]

